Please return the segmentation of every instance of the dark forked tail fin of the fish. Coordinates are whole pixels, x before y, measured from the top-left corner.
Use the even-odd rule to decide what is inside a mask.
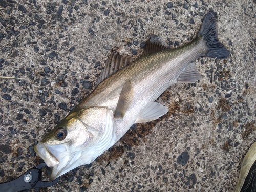
[[[216,24],[217,20],[214,12],[208,12],[204,18],[198,36],[203,37],[207,46],[205,56],[213,58],[227,58],[229,56],[229,51],[218,40]]]

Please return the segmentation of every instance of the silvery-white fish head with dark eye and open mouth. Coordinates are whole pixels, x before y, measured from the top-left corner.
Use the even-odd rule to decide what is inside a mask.
[[[53,167],[50,180],[54,180],[93,162],[112,146],[114,135],[112,111],[88,108],[71,112],[34,146],[34,150],[47,166]]]

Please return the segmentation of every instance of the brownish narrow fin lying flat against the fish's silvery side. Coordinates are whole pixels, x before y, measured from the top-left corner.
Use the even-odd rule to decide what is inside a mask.
[[[130,79],[126,80],[123,84],[122,91],[120,93],[117,106],[116,106],[116,112],[115,117],[116,118],[123,118],[125,115],[125,112],[129,108],[132,98],[133,98],[133,86]]]

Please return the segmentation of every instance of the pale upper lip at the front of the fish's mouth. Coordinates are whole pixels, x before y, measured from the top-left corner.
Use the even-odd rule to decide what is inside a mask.
[[[45,161],[48,167],[54,167],[59,164],[58,159],[49,151],[44,143],[39,142],[36,144],[34,151]]]

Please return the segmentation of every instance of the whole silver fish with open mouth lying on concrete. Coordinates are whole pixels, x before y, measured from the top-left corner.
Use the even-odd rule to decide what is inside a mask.
[[[61,120],[34,150],[52,168],[50,180],[92,163],[135,123],[156,120],[168,107],[155,100],[175,83],[197,82],[198,57],[227,58],[217,18],[209,11],[195,39],[171,49],[152,36],[134,59],[112,50],[96,88]]]

